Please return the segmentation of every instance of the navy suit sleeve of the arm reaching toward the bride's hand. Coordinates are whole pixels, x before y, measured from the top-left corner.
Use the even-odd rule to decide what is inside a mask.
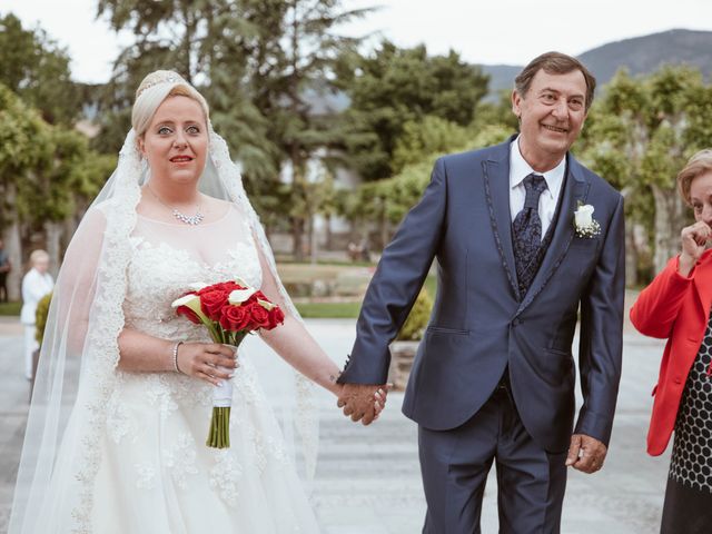
[[[445,231],[447,181],[443,159],[433,169],[421,201],[408,212],[384,249],[356,323],[356,342],[338,382],[384,384],[388,345],[408,313],[433,264]]]

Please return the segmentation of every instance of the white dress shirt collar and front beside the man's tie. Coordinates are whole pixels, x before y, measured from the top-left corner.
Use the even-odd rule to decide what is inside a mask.
[[[546,181],[546,189],[538,197],[538,217],[542,219],[542,239],[544,239],[546,230],[548,230],[556,214],[556,202],[566,172],[566,158],[562,159],[552,170],[536,172],[522,157],[518,140],[517,136],[510,145],[510,214],[512,215],[512,221],[514,221],[514,218],[524,207],[524,199],[526,198],[524,178],[532,172],[543,176],[544,181]]]

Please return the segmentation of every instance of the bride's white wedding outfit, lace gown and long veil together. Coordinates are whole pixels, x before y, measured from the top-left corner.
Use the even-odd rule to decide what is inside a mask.
[[[177,86],[195,93],[175,72],[150,76],[135,109],[157,108]],[[196,99],[204,101],[199,93]],[[202,107],[207,117],[207,103]],[[239,168],[209,121],[208,135],[198,188],[224,201],[211,202],[225,208],[224,216],[196,226],[141,216],[141,187],[150,184],[151,169],[131,129],[115,171],[67,248],[48,314],[9,534],[318,530],[295,467],[309,484],[318,408],[315,385],[305,376],[289,369],[291,379],[280,383],[277,421],[240,349],[231,446],[218,451],[205,445],[214,386],[172,372],[120,368],[125,328],[176,342],[209,340],[170,307],[194,283],[240,277],[264,286],[267,297],[300,320]]]

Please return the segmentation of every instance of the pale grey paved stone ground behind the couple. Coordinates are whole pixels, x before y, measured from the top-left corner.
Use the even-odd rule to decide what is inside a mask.
[[[355,335],[354,323],[319,319],[308,325],[340,365]],[[22,377],[21,343],[16,322],[0,320],[0,532],[7,530],[27,413],[29,387]],[[269,349],[258,339],[247,343],[260,373],[271,376],[275,358],[265,354]],[[662,347],[660,342],[626,328],[621,395],[606,466],[595,475],[570,472],[564,533],[657,532],[669,456],[652,458],[644,451],[650,392]],[[380,419],[364,427],[344,418],[329,394],[320,395],[322,439],[314,502],[324,534],[421,532],[425,503],[416,426],[400,414],[402,399],[402,394],[392,393]],[[494,476],[487,484],[482,526],[485,534],[497,532]]]

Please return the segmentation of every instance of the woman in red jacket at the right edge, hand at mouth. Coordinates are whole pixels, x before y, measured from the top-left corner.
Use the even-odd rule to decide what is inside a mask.
[[[647,433],[662,454],[675,431],[662,534],[712,532],[712,149],[678,175],[695,222],[682,229],[681,251],[631,308],[642,334],[668,338]]]

